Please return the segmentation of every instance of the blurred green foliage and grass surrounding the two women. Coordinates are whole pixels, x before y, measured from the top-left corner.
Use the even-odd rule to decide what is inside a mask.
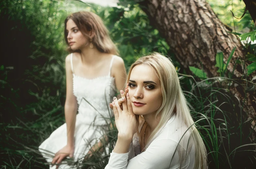
[[[247,11],[242,19],[236,19],[230,11],[240,18],[245,3],[240,0],[206,2],[229,32],[237,37],[250,32],[252,41],[248,42],[248,36],[242,36],[244,56],[235,63],[255,65],[252,18]],[[149,52],[156,51],[173,60],[194,120],[207,117],[196,125],[207,148],[210,168],[255,168],[255,123],[244,113],[244,100],[239,98],[239,102],[230,92],[231,85],[241,84],[224,72],[220,72],[219,77],[226,78],[225,85],[219,77],[208,78],[201,69],[185,69],[140,7],[136,1],[127,0],[0,1],[0,169],[48,168],[37,149],[65,123],[64,64],[68,52],[64,20],[69,14],[81,10],[92,11],[103,19],[127,70],[134,60]],[[217,55],[221,57],[221,52]],[[248,79],[247,72],[255,69],[244,70],[245,96],[247,92],[252,92],[250,96],[255,94],[255,76]],[[96,158],[83,161],[83,168],[104,168],[108,157],[98,157],[103,161]]]

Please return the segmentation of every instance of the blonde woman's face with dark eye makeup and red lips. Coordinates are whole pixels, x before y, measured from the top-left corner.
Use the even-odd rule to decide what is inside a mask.
[[[160,80],[152,67],[136,65],[130,74],[128,94],[134,114],[156,113],[162,104]]]

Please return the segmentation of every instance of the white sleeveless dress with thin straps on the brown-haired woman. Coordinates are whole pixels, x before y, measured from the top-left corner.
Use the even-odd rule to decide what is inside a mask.
[[[112,57],[108,75],[94,79],[87,79],[74,74],[73,54],[71,53],[71,70],[73,73],[73,93],[78,103],[78,114],[76,115],[74,133],[74,162],[83,159],[89,149],[103,136],[102,127],[110,123],[109,118],[113,112],[109,103],[115,96],[114,77],[110,76],[113,63]],[[54,154],[67,145],[67,124],[64,123],[57,128],[40,146],[39,151],[52,162]],[[65,163],[65,162],[63,162]],[[56,166],[51,167],[55,169]],[[72,168],[71,165],[62,164],[59,169]]]

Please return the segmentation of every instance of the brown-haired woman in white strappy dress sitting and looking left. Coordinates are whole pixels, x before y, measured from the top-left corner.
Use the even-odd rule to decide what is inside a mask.
[[[39,146],[52,163],[50,168],[61,169],[71,168],[63,159],[83,159],[102,136],[100,127],[109,123],[105,121],[108,103],[116,89],[123,89],[126,77],[124,61],[116,56],[116,46],[98,15],[83,11],[68,16],[65,40],[70,51],[66,57],[66,123]]]

